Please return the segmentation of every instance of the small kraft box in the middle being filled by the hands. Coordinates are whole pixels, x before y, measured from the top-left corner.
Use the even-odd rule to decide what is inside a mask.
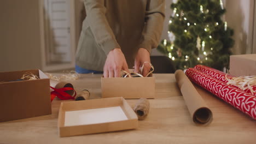
[[[155,77],[101,78],[102,98],[155,98]]]

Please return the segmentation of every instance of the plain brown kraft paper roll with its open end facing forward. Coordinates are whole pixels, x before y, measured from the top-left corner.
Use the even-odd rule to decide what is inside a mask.
[[[185,104],[195,124],[207,125],[212,122],[212,111],[182,70],[175,71],[175,78],[181,89]]]

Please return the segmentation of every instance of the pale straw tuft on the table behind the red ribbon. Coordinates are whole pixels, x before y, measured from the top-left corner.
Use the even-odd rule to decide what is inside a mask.
[[[77,80],[79,79],[80,75],[75,71],[70,71],[68,74],[62,74],[61,76],[56,76],[53,74],[46,73],[51,80]]]

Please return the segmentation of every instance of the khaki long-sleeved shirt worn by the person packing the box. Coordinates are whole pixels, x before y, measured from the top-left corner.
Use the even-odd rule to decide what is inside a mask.
[[[164,0],[84,0],[86,17],[75,56],[85,69],[103,71],[108,52],[120,48],[129,68],[137,50],[158,46]]]

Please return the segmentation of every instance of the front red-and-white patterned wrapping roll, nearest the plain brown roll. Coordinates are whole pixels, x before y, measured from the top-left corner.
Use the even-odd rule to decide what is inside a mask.
[[[235,86],[227,85],[225,82],[193,68],[187,69],[185,74],[197,85],[256,119],[256,97],[254,95],[246,93]]]

